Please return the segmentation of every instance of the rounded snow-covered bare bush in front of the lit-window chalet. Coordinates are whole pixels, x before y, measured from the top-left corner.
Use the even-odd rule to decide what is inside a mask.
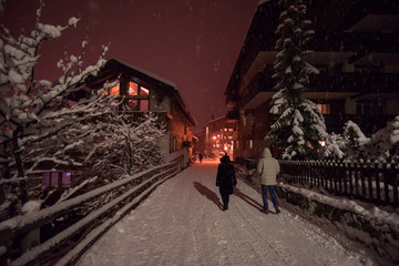
[[[80,137],[90,147],[80,150],[94,174],[120,178],[162,163],[158,141],[165,126],[155,114],[113,111],[92,123]]]

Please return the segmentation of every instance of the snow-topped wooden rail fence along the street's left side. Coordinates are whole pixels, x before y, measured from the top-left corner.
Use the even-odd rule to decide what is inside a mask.
[[[112,225],[177,172],[178,162],[164,164],[39,212],[1,222],[0,265],[73,264]],[[83,214],[84,204],[95,208]],[[61,228],[39,244],[39,235],[54,224],[61,224]],[[32,238],[37,242],[33,247]]]

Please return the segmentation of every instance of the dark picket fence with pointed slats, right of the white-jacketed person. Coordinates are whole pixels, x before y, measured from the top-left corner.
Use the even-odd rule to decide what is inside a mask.
[[[280,161],[279,177],[336,195],[398,207],[399,166],[335,161]]]

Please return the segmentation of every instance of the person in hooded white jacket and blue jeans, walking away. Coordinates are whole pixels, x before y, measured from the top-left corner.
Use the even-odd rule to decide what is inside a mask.
[[[277,196],[275,193],[275,185],[277,184],[276,176],[279,171],[280,167],[278,161],[272,157],[270,150],[268,147],[265,147],[257,165],[257,172],[260,174],[262,196],[264,203],[264,208],[262,209],[262,212],[265,214],[269,213],[267,203],[267,191],[270,194],[273,205],[276,209],[276,214],[280,213],[278,208]]]

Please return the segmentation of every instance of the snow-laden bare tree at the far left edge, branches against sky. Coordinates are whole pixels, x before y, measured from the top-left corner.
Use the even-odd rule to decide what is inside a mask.
[[[0,39],[0,144],[1,177],[19,181],[19,200],[28,200],[27,178],[40,163],[79,165],[66,153],[76,144],[74,140],[60,142],[58,136],[88,117],[104,113],[109,105],[104,96],[93,94],[80,102],[70,101],[72,92],[88,75],[95,75],[104,64],[108,47],[94,65],[83,66],[88,41],[82,42],[80,55],[68,54],[59,61],[63,74],[55,81],[35,80],[34,73],[44,41],[59,38],[79,19],[71,18],[68,25],[41,23],[43,3],[37,11],[35,27],[30,34],[14,38],[1,28]]]

